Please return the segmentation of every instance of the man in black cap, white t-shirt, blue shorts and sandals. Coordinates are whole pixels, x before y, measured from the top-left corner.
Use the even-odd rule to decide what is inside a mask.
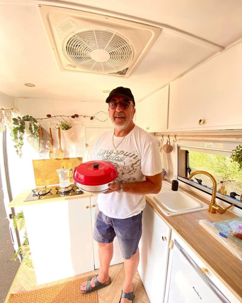
[[[80,286],[86,294],[111,283],[109,266],[117,236],[124,258],[125,281],[120,303],[133,302],[132,279],[139,264],[142,210],[145,194],[158,193],[162,185],[161,161],[155,138],[133,122],[135,100],[129,88],[113,89],[106,103],[114,130],[97,139],[93,160],[113,163],[119,175],[109,190],[98,195],[93,238],[98,242],[100,271]]]

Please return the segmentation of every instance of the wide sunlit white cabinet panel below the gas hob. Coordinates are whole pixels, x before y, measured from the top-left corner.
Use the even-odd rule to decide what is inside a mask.
[[[90,198],[23,208],[37,283],[94,269]]]

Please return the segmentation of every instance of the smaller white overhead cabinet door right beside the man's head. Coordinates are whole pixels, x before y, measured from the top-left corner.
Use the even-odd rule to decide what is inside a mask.
[[[135,123],[147,132],[167,129],[169,85],[137,104]]]

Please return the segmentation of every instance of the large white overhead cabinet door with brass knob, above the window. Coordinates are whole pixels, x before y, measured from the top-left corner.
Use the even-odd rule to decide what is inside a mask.
[[[171,82],[169,130],[242,127],[241,53],[242,43]]]

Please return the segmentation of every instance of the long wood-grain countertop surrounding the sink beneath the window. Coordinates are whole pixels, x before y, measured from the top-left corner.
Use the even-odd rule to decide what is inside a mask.
[[[205,203],[209,201],[186,188],[179,186],[195,198]],[[162,218],[165,223],[195,252],[196,255],[208,266],[214,275],[242,302],[242,262],[229,252],[223,245],[214,239],[204,228],[199,225],[198,220],[210,222],[223,221],[236,218],[230,211],[220,215],[211,214],[208,210],[192,212],[183,215],[168,217],[146,196],[146,202]]]

